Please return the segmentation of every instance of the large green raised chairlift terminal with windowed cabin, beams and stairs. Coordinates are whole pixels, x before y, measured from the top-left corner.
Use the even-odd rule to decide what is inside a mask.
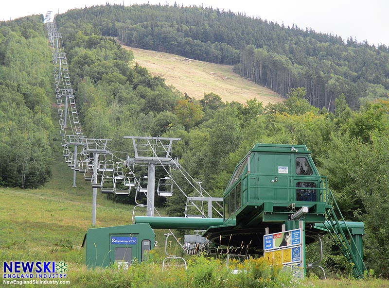
[[[305,145],[256,144],[236,166],[223,194],[223,219],[135,217],[152,228],[204,229],[203,237],[262,253],[264,235],[304,225],[305,244],[330,234],[362,277],[363,222],[346,222]],[[301,216],[298,213],[303,210]],[[299,213],[300,214],[300,213]],[[296,217],[298,216],[298,217]]]

